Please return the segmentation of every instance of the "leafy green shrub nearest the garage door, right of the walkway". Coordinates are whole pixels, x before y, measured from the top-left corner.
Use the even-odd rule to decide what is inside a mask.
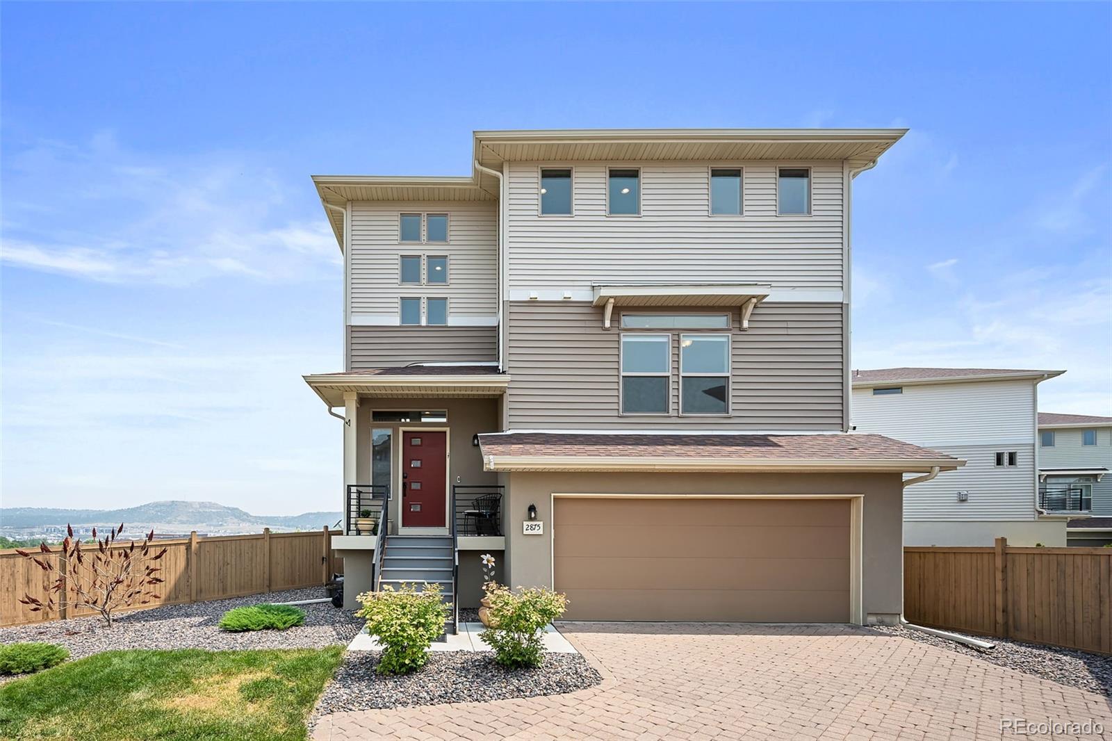
[[[567,597],[545,587],[487,587],[490,618],[496,628],[483,631],[481,639],[494,649],[503,666],[539,666],[544,661],[544,628],[564,614]]]

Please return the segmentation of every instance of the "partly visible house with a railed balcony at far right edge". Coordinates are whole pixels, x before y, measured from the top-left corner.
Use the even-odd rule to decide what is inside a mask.
[[[1074,515],[1066,544],[1112,543],[1110,472],[1112,417],[1039,413],[1039,497],[1044,510]]]

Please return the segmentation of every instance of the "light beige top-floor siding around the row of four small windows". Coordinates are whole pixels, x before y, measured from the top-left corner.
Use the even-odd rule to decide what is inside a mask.
[[[708,162],[642,164],[639,217],[606,216],[605,162],[575,165],[574,216],[540,217],[538,166],[512,164],[510,290],[583,290],[603,280],[738,280],[778,289],[841,289],[842,162],[811,164],[813,215],[791,217],[776,216],[777,165],[739,165],[742,218],[708,216]]]

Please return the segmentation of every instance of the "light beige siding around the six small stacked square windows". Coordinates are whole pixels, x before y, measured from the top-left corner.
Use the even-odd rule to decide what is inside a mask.
[[[448,214],[448,244],[401,244],[404,213]],[[351,204],[351,313],[397,317],[399,296],[447,296],[451,317],[494,316],[497,306],[497,204]],[[399,285],[400,255],[447,255],[448,285]]]

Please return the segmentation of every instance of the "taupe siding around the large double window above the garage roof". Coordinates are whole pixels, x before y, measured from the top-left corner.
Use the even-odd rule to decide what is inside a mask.
[[[673,342],[672,414],[618,414],[618,329],[587,304],[509,305],[509,427],[659,429],[842,428],[841,304],[763,304],[747,332],[733,313],[733,416],[678,416]],[[617,326],[618,313],[614,324]]]

